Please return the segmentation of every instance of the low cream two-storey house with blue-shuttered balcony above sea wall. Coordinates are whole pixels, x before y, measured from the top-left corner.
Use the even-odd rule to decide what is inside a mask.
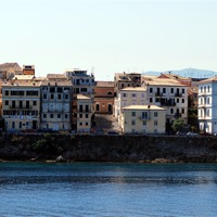
[[[165,108],[129,105],[123,108],[123,133],[165,133]]]

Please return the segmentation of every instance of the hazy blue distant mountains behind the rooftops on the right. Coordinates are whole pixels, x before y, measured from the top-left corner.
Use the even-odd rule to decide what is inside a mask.
[[[153,71],[149,71],[149,72],[144,72],[142,73],[142,75],[161,75],[161,73],[164,74],[176,74],[182,77],[187,77],[187,78],[210,78],[214,76],[217,76],[217,72],[214,71],[206,71],[206,69],[196,69],[196,68],[184,68],[184,69],[180,69],[180,71],[165,71],[165,72],[153,72]]]

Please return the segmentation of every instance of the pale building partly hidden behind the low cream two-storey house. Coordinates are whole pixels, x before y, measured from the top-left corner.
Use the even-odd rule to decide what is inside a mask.
[[[115,99],[115,117],[122,122],[123,107],[129,105],[145,105],[146,102],[146,88],[145,87],[129,87],[118,91]]]

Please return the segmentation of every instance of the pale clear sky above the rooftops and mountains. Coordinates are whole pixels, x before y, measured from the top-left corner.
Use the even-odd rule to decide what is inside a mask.
[[[0,63],[36,76],[217,71],[217,0],[0,0]]]

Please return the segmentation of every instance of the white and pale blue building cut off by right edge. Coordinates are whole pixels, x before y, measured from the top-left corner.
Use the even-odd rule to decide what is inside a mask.
[[[217,132],[217,77],[199,82],[197,117],[200,130]]]

